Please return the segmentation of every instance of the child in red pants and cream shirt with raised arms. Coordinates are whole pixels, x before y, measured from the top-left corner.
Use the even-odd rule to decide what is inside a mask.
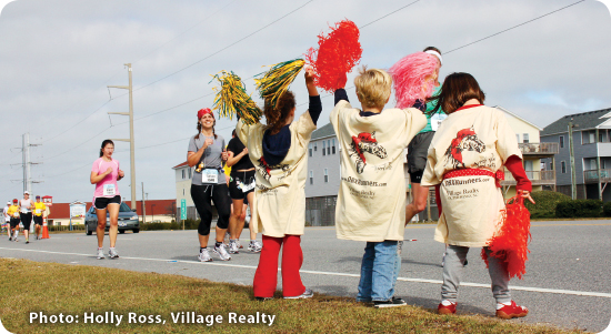
[[[273,297],[278,283],[278,256],[282,247],[282,295],[284,298],[309,298],[310,289],[301,282],[299,270],[303,263],[301,235],[306,226],[306,173],[308,143],[322,111],[314,85],[313,73],[306,70],[306,85],[310,95],[308,111],[294,120],[296,100],[284,92],[277,108],[264,107],[267,125],[246,125],[238,121],[236,133],[248,148],[256,165],[250,229],[263,234],[263,249],[254,273],[254,297]]]

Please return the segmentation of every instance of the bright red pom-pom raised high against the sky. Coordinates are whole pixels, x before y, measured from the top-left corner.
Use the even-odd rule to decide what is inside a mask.
[[[345,87],[345,74],[361,60],[363,50],[359,42],[359,28],[343,20],[330,27],[328,36],[318,36],[318,50],[310,48],[306,60],[314,71],[314,84],[328,92]]]

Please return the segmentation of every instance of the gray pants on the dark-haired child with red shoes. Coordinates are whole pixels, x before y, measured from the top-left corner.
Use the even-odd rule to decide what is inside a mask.
[[[507,265],[498,257],[490,256],[490,250],[484,247],[488,255],[488,273],[492,281],[492,295],[497,303],[511,302],[509,292],[509,273]],[[441,300],[457,302],[458,287],[464,269],[469,247],[448,245],[445,250],[445,262],[443,264],[443,285],[441,285]]]

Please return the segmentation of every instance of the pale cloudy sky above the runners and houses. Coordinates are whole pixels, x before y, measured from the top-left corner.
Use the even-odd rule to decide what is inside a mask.
[[[434,45],[444,53],[440,81],[469,72],[487,105],[502,105],[541,128],[567,114],[611,108],[610,12],[594,0],[553,12],[574,2],[9,2],[0,13],[0,200],[21,198],[22,135],[29,133],[36,144],[31,161],[38,163],[31,165],[32,179],[41,181],[32,184],[33,193],[54,202],[91,201],[89,175],[101,142],[129,138],[128,117],[108,114],[129,111],[127,91],[107,88],[128,84],[124,63],[132,64],[133,75],[137,199],[142,182],[148,199],[176,199],[172,166],[186,161],[197,111],[212,107],[211,75],[233,71],[260,102],[252,77],[303,57],[318,34],[343,19],[360,27],[360,64],[388,69]],[[308,108],[301,74],[291,90],[301,114]],[[320,93],[319,128],[333,107],[329,93]],[[353,89],[349,98],[357,101]],[[234,124],[217,114],[217,133],[227,141]],[[130,200],[129,143],[116,142],[113,158],[126,171],[119,190]]]

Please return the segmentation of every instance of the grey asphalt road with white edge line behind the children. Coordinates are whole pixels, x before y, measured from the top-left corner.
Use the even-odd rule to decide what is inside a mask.
[[[434,225],[410,225],[395,295],[409,304],[437,308],[444,245],[432,240]],[[611,320],[611,221],[533,222],[532,243],[523,280],[512,280],[513,298],[530,314],[513,322],[547,323],[601,332]],[[248,242],[244,231],[242,243]],[[212,239],[212,237],[211,237]],[[229,262],[197,261],[196,231],[151,231],[120,234],[119,260],[96,259],[96,235],[51,234],[24,244],[0,239],[0,256],[67,264],[98,265],[170,273],[251,285],[259,255],[241,252]],[[108,236],[104,240],[108,253]],[[314,292],[355,296],[364,242],[340,241],[333,227],[308,227],[302,237],[303,283]],[[459,313],[494,315],[490,277],[480,249],[469,255],[459,297]],[[279,277],[279,282],[281,279]]]

